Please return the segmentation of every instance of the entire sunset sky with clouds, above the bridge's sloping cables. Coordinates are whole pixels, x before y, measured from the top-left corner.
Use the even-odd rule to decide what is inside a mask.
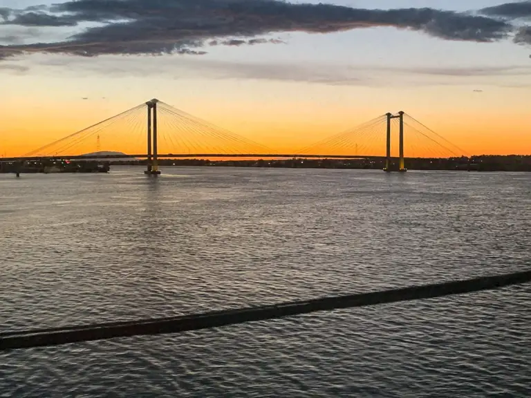
[[[403,110],[531,154],[530,1],[115,1],[0,0],[1,156],[153,97],[278,151]]]

